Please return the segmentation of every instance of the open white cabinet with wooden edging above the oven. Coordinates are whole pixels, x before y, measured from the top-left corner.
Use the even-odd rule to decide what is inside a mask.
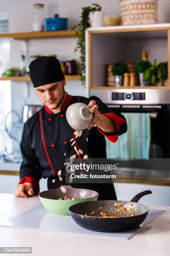
[[[170,24],[134,26],[110,26],[88,28],[86,31],[86,85],[89,90],[106,89],[170,89],[170,69],[168,86],[106,86],[107,64],[123,60],[136,62],[141,59],[141,51],[150,51],[153,63],[167,61],[170,65]],[[169,66],[170,67],[170,66]]]

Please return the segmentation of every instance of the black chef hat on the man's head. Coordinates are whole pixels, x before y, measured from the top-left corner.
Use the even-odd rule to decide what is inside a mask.
[[[34,87],[63,80],[64,74],[58,59],[41,56],[30,63],[30,79]]]

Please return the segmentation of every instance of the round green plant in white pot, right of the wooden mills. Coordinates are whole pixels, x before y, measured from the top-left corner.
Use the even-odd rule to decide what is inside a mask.
[[[144,73],[147,69],[149,69],[152,66],[150,61],[147,60],[140,60],[135,65],[135,71],[139,74],[140,79],[140,86],[146,86],[150,84],[150,81],[144,81]]]

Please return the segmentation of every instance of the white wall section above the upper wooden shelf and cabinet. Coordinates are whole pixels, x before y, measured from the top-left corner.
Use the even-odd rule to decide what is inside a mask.
[[[8,0],[10,32],[21,32],[32,30],[32,5],[37,0]],[[2,3],[7,1],[1,1]],[[102,10],[108,13],[120,13],[119,0],[41,0],[45,4],[45,16],[52,17],[54,13],[59,13],[60,17],[69,18],[69,27],[79,19],[83,6],[99,3]],[[158,1],[158,22],[170,22],[170,1]]]

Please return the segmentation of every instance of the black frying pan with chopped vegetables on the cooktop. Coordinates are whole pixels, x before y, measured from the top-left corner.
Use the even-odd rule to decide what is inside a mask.
[[[137,202],[141,197],[148,194],[152,194],[152,192],[150,190],[143,191],[133,197],[130,202],[118,200],[82,202],[72,205],[69,211],[75,223],[82,228],[100,232],[130,230],[138,227],[147,217],[149,207]],[[122,202],[124,203],[120,206]],[[123,208],[124,210],[122,210]],[[121,210],[121,212],[117,210]],[[122,214],[122,212],[124,213]],[[116,217],[103,218],[102,216],[104,216],[105,213],[107,216],[115,215]]]

